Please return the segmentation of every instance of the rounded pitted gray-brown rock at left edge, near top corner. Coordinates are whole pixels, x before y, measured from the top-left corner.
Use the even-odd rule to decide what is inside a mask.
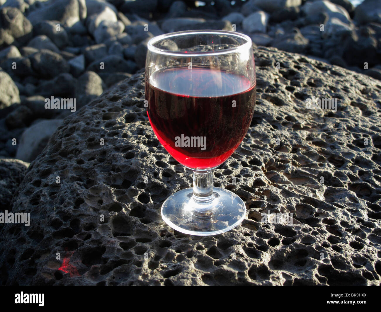
[[[0,10],[0,48],[24,45],[32,38],[32,29],[32,24],[17,8]]]

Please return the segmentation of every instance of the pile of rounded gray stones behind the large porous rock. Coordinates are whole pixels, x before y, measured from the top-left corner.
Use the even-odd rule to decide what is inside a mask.
[[[0,0],[0,156],[32,161],[62,119],[72,114],[45,109],[46,98],[73,98],[77,109],[85,106],[143,68],[147,40],[166,32],[235,29],[250,35],[256,45],[381,78],[378,0],[365,0],[356,8],[348,0],[204,4]]]

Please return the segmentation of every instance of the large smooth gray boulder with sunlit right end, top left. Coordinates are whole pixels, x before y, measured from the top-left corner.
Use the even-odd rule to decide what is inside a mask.
[[[81,14],[83,14],[83,9]],[[29,13],[28,19],[33,25],[40,21],[50,20],[59,21],[63,26],[71,27],[80,21],[82,16],[80,16],[78,0],[52,0],[48,5]]]

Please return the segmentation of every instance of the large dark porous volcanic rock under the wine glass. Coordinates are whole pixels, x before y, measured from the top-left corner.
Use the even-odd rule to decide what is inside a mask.
[[[1,282],[379,285],[380,82],[275,48],[255,56],[250,129],[214,174],[246,202],[241,226],[196,237],[163,222],[192,175],[155,138],[140,71],[67,117],[31,163],[13,199],[31,224],[2,226]],[[338,111],[306,109],[312,96]],[[268,211],[293,225],[261,222]]]

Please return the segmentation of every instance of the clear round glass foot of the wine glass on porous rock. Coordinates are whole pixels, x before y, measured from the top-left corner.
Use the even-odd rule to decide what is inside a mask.
[[[162,205],[162,218],[173,229],[189,235],[216,235],[239,225],[246,214],[245,203],[233,192],[213,187],[213,198],[199,202],[193,189],[180,190]]]

